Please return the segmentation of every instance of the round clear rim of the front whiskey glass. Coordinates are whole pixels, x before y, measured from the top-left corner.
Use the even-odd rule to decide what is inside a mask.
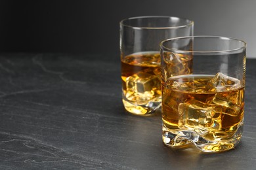
[[[193,38],[215,38],[215,39],[225,39],[225,40],[233,40],[233,41],[240,41],[242,42],[244,45],[242,45],[240,48],[234,48],[234,49],[230,49],[230,50],[211,50],[211,51],[195,51],[195,50],[177,50],[177,49],[173,49],[173,48],[167,48],[166,46],[163,45],[164,42],[167,41],[174,41],[174,40],[178,40],[178,39],[193,39]],[[223,36],[212,36],[212,35],[196,35],[196,36],[186,36],[186,37],[175,37],[175,38],[171,38],[171,39],[166,39],[160,42],[160,48],[162,48],[163,50],[167,50],[170,52],[175,52],[175,53],[223,53],[223,52],[234,52],[237,50],[242,50],[245,49],[247,46],[245,41],[242,41],[240,39],[234,39],[234,38],[230,38],[230,37],[223,37]]]

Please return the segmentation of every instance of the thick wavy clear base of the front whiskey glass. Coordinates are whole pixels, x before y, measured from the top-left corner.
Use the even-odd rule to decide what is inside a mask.
[[[207,139],[190,129],[169,129],[163,125],[163,143],[172,148],[184,148],[194,144],[203,152],[223,152],[234,148],[242,137],[243,125],[228,139]]]

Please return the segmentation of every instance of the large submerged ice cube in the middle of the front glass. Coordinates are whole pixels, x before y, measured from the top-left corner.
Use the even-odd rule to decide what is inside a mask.
[[[181,103],[178,109],[179,127],[190,127],[198,133],[216,131],[221,128],[221,107],[192,99]]]

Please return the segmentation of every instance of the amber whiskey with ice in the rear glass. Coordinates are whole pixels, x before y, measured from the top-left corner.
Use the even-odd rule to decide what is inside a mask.
[[[121,58],[123,104],[134,114],[148,114],[161,105],[159,52],[135,53]]]

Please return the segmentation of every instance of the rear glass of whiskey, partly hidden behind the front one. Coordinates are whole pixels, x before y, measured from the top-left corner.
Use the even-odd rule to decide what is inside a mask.
[[[161,107],[160,42],[193,35],[194,22],[170,16],[140,16],[120,22],[123,105],[132,114]]]

